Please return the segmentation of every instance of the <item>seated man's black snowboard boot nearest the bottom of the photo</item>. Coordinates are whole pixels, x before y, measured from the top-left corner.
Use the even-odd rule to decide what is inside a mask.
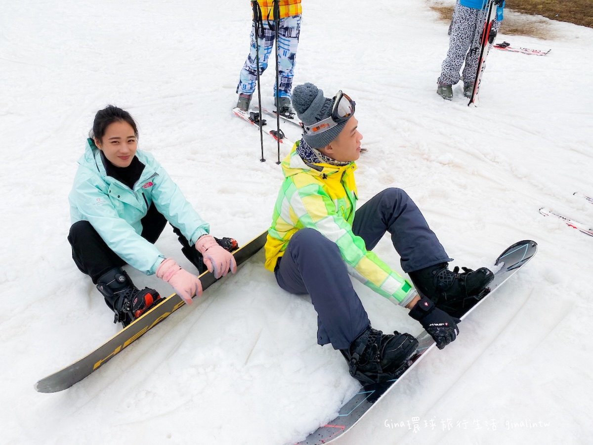
[[[418,341],[409,333],[387,335],[369,326],[340,352],[348,362],[350,375],[370,384],[397,379],[409,367],[417,346]]]

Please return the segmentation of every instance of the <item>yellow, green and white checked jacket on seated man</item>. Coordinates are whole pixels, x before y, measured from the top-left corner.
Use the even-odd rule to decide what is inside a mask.
[[[406,306],[416,295],[414,288],[352,233],[358,199],[356,164],[336,167],[305,162],[297,153],[298,144],[282,161],[285,179],[267,234],[266,269],[274,270],[297,230],[313,228],[337,244],[351,276],[393,303]]]

